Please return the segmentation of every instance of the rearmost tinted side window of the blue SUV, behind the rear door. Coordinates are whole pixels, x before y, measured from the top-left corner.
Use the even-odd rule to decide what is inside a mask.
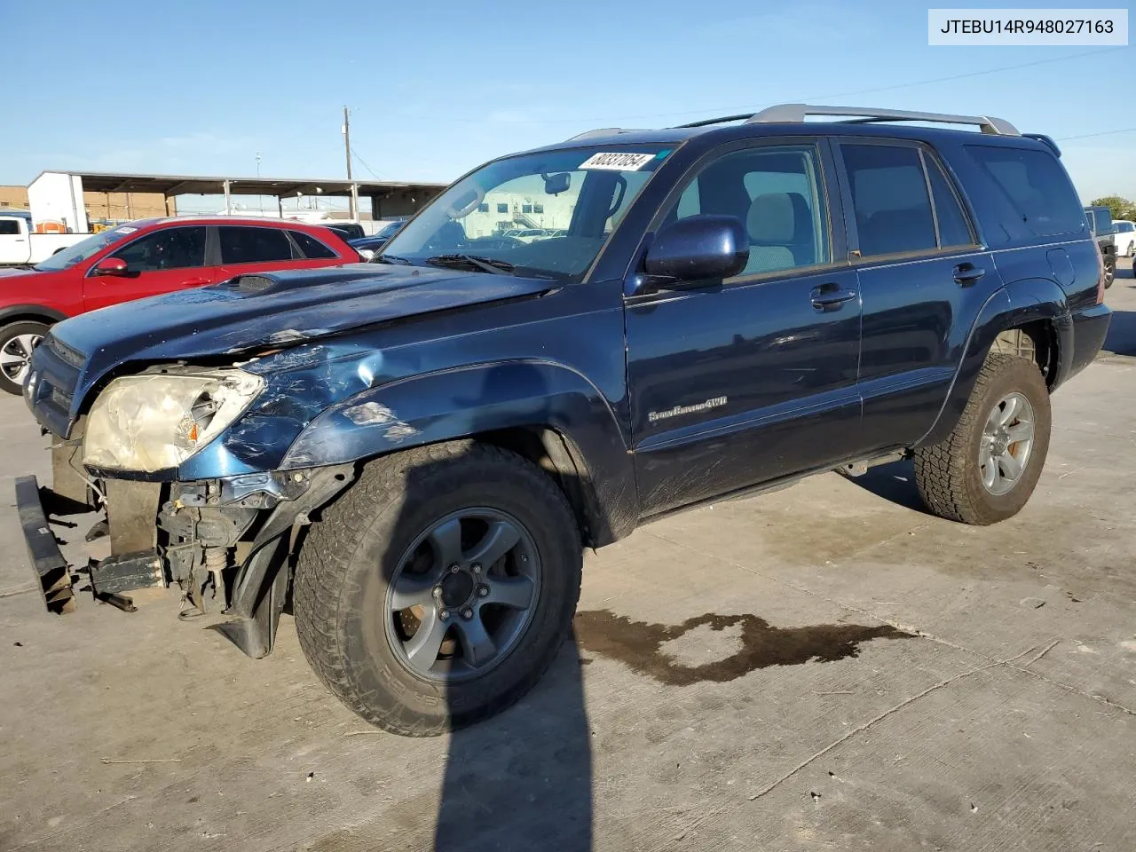
[[[1037,236],[1076,233],[1084,227],[1077,193],[1051,153],[994,145],[967,145],[967,150]]]

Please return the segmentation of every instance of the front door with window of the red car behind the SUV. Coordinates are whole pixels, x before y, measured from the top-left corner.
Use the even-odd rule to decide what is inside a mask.
[[[92,265],[83,282],[86,310],[217,281],[217,268],[206,264],[207,236],[204,225],[178,225],[120,245],[108,257],[124,260],[126,275],[95,275]]]

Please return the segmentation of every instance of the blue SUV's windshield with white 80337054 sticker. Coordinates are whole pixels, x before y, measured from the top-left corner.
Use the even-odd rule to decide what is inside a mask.
[[[580,281],[670,150],[607,145],[496,160],[443,192],[376,260]]]

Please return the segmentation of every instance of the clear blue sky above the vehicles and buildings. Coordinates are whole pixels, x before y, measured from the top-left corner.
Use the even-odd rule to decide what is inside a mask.
[[[1058,139],[1136,127],[1136,48],[933,48],[909,0],[0,0],[0,32],[18,81],[0,86],[0,183],[251,176],[258,151],[265,176],[339,177],[343,105],[358,176],[443,182],[596,126],[802,99],[988,112]],[[1136,198],[1136,133],[1062,149],[1086,199]]]

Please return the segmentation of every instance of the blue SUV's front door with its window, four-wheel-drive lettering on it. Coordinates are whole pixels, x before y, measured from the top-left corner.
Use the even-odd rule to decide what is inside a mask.
[[[632,296],[627,358],[645,515],[854,454],[860,296],[834,226],[825,149],[758,144],[710,156],[661,226],[736,216],[741,275]],[[827,187],[827,190],[826,190]]]

